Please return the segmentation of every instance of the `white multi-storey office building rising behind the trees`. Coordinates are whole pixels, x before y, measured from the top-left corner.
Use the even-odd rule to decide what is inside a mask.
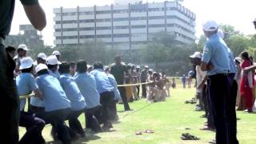
[[[54,8],[54,44],[79,45],[101,39],[107,46],[137,49],[152,34],[166,31],[178,42],[195,41],[195,14],[179,2]]]

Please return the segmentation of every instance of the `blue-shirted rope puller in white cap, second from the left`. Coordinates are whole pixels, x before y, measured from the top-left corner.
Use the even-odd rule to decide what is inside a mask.
[[[40,63],[35,70],[38,74],[36,82],[42,91],[46,111],[44,114],[38,114],[38,117],[53,126],[53,134],[56,132],[62,143],[71,143],[69,127],[64,122],[70,114],[70,100],[66,98],[58,79],[49,75],[46,65]]]

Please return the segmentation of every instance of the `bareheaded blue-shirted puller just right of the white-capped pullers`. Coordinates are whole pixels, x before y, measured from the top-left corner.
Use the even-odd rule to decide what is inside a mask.
[[[62,62],[62,64],[59,65],[59,73],[61,74],[59,82],[71,102],[71,112],[69,116],[70,129],[84,138],[86,134],[82,129],[78,117],[86,111],[86,100],[82,96],[74,79],[70,77],[70,64],[68,62]]]

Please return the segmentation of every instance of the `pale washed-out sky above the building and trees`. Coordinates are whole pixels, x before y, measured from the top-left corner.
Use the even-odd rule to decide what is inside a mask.
[[[123,0],[127,1],[127,0]],[[47,26],[42,30],[46,45],[54,42],[54,7],[104,6],[114,0],[39,0],[46,12]],[[162,0],[144,0],[144,2],[163,2]],[[196,36],[202,34],[202,22],[213,19],[218,23],[229,24],[244,34],[256,34],[252,21],[256,18],[255,0],[184,0],[182,5],[192,10],[196,15]],[[16,1],[14,20],[10,34],[18,34],[18,25],[30,23],[19,1]]]

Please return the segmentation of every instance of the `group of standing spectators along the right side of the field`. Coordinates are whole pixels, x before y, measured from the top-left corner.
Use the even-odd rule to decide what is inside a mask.
[[[207,118],[202,130],[215,130],[216,143],[238,144],[236,110],[251,113],[256,106],[254,59],[246,51],[234,58],[216,22],[204,23],[203,31],[208,38],[203,53],[190,55],[199,110]]]

